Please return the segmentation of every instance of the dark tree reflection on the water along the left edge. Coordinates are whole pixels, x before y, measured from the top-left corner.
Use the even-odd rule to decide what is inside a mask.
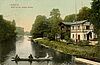
[[[0,43],[0,63],[7,60],[9,54],[14,55],[16,50],[15,40]]]

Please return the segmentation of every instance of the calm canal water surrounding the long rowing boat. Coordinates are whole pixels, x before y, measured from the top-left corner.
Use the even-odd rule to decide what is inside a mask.
[[[65,55],[53,49],[48,49],[39,44],[32,43],[27,36],[21,37],[16,42],[0,44],[0,65],[17,65],[14,61],[11,61],[12,57],[16,54],[21,58],[28,58],[30,54],[40,58],[44,58],[47,55],[53,57],[52,61],[49,63],[46,61],[32,62],[31,65],[78,65],[72,60],[71,55]],[[18,65],[30,65],[30,63],[28,61],[21,61],[18,62]]]

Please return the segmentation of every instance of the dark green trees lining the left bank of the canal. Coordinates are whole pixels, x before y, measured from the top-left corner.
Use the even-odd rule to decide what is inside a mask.
[[[15,37],[15,29],[16,27],[11,21],[3,19],[3,15],[0,15],[0,42]]]

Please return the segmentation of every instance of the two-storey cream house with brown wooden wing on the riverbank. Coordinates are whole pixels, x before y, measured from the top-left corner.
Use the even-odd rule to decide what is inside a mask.
[[[66,29],[70,32],[70,38],[76,42],[80,40],[95,40],[97,35],[94,33],[94,26],[87,20],[77,22],[62,22],[61,30]]]

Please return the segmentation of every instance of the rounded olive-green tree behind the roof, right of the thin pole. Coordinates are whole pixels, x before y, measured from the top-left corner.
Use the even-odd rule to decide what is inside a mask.
[[[82,7],[77,14],[77,20],[88,20],[90,18],[90,11],[91,9],[88,7]]]

